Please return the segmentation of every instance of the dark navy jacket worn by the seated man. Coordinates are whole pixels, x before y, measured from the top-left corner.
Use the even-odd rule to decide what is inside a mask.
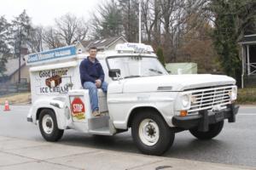
[[[93,63],[90,61],[89,57],[87,57],[87,59],[84,59],[81,62],[79,70],[82,86],[84,82],[95,83],[97,79],[100,79],[102,82],[104,82],[104,71],[98,59],[96,59]]]

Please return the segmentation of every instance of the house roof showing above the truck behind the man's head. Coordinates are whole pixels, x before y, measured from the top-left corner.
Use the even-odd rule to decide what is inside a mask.
[[[82,41],[81,43],[86,50],[88,50],[90,47],[96,47],[98,51],[104,51],[113,50],[116,44],[125,42],[127,42],[127,40],[125,40],[125,37],[119,36],[103,38],[101,40]]]

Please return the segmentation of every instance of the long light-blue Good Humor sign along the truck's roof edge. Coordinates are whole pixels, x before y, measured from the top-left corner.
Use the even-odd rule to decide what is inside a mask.
[[[76,48],[73,47],[67,47],[67,48],[59,48],[59,49],[53,49],[47,52],[42,52],[38,54],[31,54],[28,56],[27,63],[37,62],[37,61],[43,61],[47,59],[56,59],[60,57],[67,57],[70,55],[76,54]]]

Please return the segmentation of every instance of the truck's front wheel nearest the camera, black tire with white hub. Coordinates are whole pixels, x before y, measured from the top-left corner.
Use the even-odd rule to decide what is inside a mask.
[[[143,133],[144,132],[144,133]],[[172,145],[175,133],[157,111],[140,111],[131,122],[132,139],[143,154],[160,156]]]

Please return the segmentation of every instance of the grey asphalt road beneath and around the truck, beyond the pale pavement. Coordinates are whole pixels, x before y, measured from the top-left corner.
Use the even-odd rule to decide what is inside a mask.
[[[0,135],[17,139],[43,141],[37,126],[26,122],[29,105],[0,106]],[[138,153],[131,132],[113,137],[100,137],[67,130],[61,144],[70,146]],[[236,123],[225,122],[222,133],[210,141],[195,139],[189,132],[176,134],[174,144],[165,157],[256,167],[256,106],[242,106]]]

